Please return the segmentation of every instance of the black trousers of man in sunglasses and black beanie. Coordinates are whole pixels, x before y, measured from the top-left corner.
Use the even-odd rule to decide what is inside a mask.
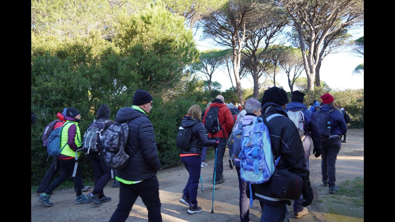
[[[140,196],[148,210],[149,222],[162,222],[160,214],[159,182],[156,176],[136,184],[119,182],[119,203],[109,222],[125,221],[137,197]]]

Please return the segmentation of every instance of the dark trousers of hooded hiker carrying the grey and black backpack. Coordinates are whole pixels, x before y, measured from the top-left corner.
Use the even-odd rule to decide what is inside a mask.
[[[103,161],[103,154],[89,154],[88,158],[95,173],[95,188],[93,194],[100,194],[100,198],[104,196],[103,189],[111,180],[111,169],[105,165]]]

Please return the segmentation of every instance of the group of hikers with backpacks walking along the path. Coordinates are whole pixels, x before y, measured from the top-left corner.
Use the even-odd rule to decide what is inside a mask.
[[[300,197],[293,199],[293,214],[300,218],[308,213],[307,206],[313,201],[313,191],[309,179],[309,164],[311,141],[313,154],[322,158],[322,183],[329,186],[329,193],[335,194],[339,188],[336,186],[335,163],[340,151],[340,137],[347,132],[347,124],[342,110],[335,105],[335,98],[329,93],[321,96],[322,105],[314,106],[311,111],[303,104],[305,94],[296,90],[292,92],[291,102],[288,101],[284,89],[271,87],[265,90],[261,102],[249,98],[242,107],[233,103],[225,104],[222,95],[216,98],[202,112],[199,105],[192,105],[187,114],[182,117],[180,130],[190,128],[190,143],[188,147],[180,148],[182,164],[189,173],[188,180],[182,191],[181,203],[188,206],[189,214],[201,212],[198,206],[198,185],[201,167],[207,166],[205,156],[208,147],[214,147],[215,166],[213,167],[214,190],[216,184],[223,184],[223,158],[226,147],[229,149],[229,167],[236,168],[239,180],[239,209],[240,221],[248,222],[249,198],[258,199],[262,209],[261,222],[289,221],[287,205],[292,199],[281,198],[273,194],[271,180],[263,183],[249,184],[245,180],[244,159],[241,155],[244,144],[240,144],[243,130],[263,119],[267,126],[271,142],[273,158],[276,160],[276,169],[288,169],[303,180],[300,184]],[[148,117],[152,109],[152,95],[145,90],[137,90],[133,96],[132,107],[122,107],[117,112],[115,122],[126,122],[129,128],[124,151],[129,159],[126,166],[117,169],[115,179],[119,181],[120,193],[117,209],[112,214],[110,222],[125,221],[138,196],[141,197],[148,210],[148,220],[151,222],[162,221],[160,213],[159,183],[156,177],[161,163],[156,148],[154,128]],[[292,113],[297,112],[303,119],[302,127],[295,126]],[[300,114],[299,114],[300,112]],[[290,118],[288,114],[290,115]],[[321,113],[327,113],[325,127],[329,130],[323,136],[320,126]],[[82,151],[81,133],[78,127],[81,115],[73,107],[65,109],[64,126],[62,128],[61,147],[64,147],[54,160],[60,166],[61,175],[38,197],[38,201],[45,206],[53,205],[49,201],[52,191],[73,175],[76,199],[75,203],[89,203],[93,201],[101,204],[110,201],[104,195],[103,189],[111,179],[111,169],[103,163],[101,152],[88,154],[95,173],[94,189],[87,196],[81,193],[84,188],[81,168],[76,160]],[[292,114],[292,115],[291,115]],[[103,104],[98,109],[96,121],[105,122],[109,119],[110,109]],[[299,116],[300,117],[300,116]],[[70,123],[70,124],[69,124]],[[111,124],[112,121],[109,121]],[[93,123],[91,123],[93,124]],[[108,128],[106,125],[105,130]],[[325,130],[325,129],[324,129]],[[186,130],[185,130],[186,132]],[[244,138],[244,136],[243,136]],[[242,139],[243,139],[242,138]],[[256,138],[261,140],[262,138]],[[105,152],[105,149],[103,149]],[[281,158],[280,158],[281,157]],[[38,190],[39,192],[39,190]],[[250,197],[248,193],[254,195]]]

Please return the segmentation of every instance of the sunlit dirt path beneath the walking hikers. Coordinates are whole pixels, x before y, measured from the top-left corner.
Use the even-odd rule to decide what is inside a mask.
[[[209,150],[212,152],[212,150]],[[188,172],[184,167],[174,167],[158,172],[160,200],[162,203],[161,212],[164,222],[239,222],[239,187],[235,168],[228,166],[228,151],[224,157],[224,179],[225,183],[215,186],[214,213],[211,212],[213,199],[212,174],[214,160],[207,162],[209,166],[201,169],[203,179],[203,193],[201,184],[198,190],[198,202],[203,211],[196,214],[188,214],[188,207],[179,202],[182,196],[182,189],[188,179]],[[355,177],[363,177],[363,129],[350,129],[347,132],[347,143],[342,143],[342,149],[336,162],[337,184],[342,181],[352,180]],[[321,158],[310,156],[310,180],[314,190],[313,204],[308,206],[309,213],[302,218],[293,218],[292,205],[288,207],[291,222],[330,222],[336,221],[328,214],[322,199],[329,196],[327,187],[321,183]],[[37,197],[32,194],[31,217],[32,222],[107,222],[117,208],[119,201],[119,188],[111,188],[111,183],[107,185],[104,192],[112,201],[96,205],[94,203],[74,204],[74,190],[55,190],[51,196],[53,207],[44,207],[37,201]],[[87,192],[85,192],[87,194]],[[336,194],[335,194],[336,195]],[[329,196],[330,197],[330,196]],[[340,208],[342,206],[339,206]],[[323,209],[325,209],[323,211]],[[355,213],[363,218],[363,207],[344,209],[350,214]],[[361,212],[362,211],[362,212]],[[147,222],[147,209],[141,198],[135,202],[130,212],[128,222]],[[255,200],[250,209],[250,221],[260,221],[261,210],[259,201]],[[348,221],[353,221],[352,218]],[[363,221],[363,219],[362,219]]]

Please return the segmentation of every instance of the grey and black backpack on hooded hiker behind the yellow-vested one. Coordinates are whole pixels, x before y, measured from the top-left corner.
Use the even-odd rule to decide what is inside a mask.
[[[98,154],[102,152],[103,145],[103,134],[105,124],[113,122],[111,120],[93,120],[93,123],[89,126],[83,137],[83,151],[87,154]]]

